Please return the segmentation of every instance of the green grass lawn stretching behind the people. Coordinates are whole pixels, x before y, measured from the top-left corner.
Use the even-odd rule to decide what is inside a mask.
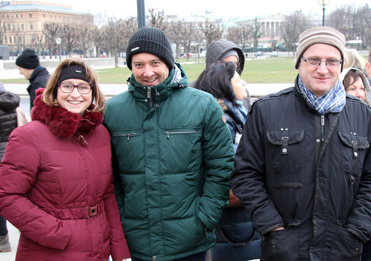
[[[185,61],[185,58],[184,58]],[[245,61],[241,78],[247,83],[291,83],[295,80],[298,70],[294,68],[293,58],[267,58],[263,60]],[[193,63],[182,65],[187,73],[189,81],[194,81],[205,69],[205,63]],[[111,68],[97,70],[99,83],[124,84],[131,71],[128,68]],[[2,83],[29,83],[24,78],[4,79]]]

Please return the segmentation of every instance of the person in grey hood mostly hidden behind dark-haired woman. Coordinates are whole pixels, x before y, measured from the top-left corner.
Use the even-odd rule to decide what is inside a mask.
[[[230,61],[236,66],[236,71],[238,74],[242,74],[243,67],[245,64],[245,58],[243,51],[236,44],[227,40],[217,40],[210,43],[207,47],[206,52],[206,68],[210,67],[212,64],[218,61]],[[194,87],[196,81],[191,82],[189,85]],[[242,104],[247,109],[250,110],[250,94],[246,90],[247,97],[243,99]]]

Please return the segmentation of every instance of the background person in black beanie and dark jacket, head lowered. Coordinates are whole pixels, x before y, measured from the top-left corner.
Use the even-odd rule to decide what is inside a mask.
[[[40,87],[45,87],[49,79],[49,72],[42,67],[39,62],[39,57],[34,50],[26,48],[17,57],[16,60],[19,74],[23,74],[26,80],[30,81],[27,91],[30,94],[30,108],[33,107],[33,100],[36,98],[35,91]]]

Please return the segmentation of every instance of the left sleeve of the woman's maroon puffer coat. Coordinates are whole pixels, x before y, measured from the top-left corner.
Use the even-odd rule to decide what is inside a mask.
[[[13,131],[0,164],[0,215],[31,240],[63,250],[71,236],[68,222],[45,213],[27,198],[40,170],[43,140],[26,126]]]

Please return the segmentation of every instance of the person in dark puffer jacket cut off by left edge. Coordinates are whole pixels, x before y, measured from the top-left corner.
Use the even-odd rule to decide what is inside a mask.
[[[18,106],[19,96],[6,91],[4,84],[0,83],[0,161],[3,159],[10,133],[17,127],[16,108]],[[6,219],[0,216],[0,252],[11,250]]]

